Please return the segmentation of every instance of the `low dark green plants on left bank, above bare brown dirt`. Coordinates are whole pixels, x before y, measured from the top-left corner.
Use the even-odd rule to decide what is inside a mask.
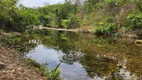
[[[23,37],[24,38],[24,37]],[[24,42],[21,44],[21,42]],[[36,46],[36,44],[29,44],[28,40],[23,40],[21,36],[16,36],[9,34],[5,37],[1,37],[1,42],[0,44],[7,46],[8,48],[14,48],[18,51],[20,51],[23,55],[23,53],[31,50]],[[28,46],[28,47],[27,47]]]

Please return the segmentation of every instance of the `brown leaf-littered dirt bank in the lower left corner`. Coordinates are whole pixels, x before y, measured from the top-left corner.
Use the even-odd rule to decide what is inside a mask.
[[[38,68],[23,62],[20,53],[0,45],[0,62],[6,66],[0,69],[0,80],[45,80]]]

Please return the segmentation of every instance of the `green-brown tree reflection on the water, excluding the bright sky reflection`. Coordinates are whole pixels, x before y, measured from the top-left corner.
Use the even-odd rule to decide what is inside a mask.
[[[46,37],[48,38],[39,37],[41,43],[61,51],[63,56],[60,62],[68,65],[80,63],[92,79],[141,79],[142,47],[127,40],[59,31],[49,31]],[[125,68],[120,64],[124,59],[127,59]]]

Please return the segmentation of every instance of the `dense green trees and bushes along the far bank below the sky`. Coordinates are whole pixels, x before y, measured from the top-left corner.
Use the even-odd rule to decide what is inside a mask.
[[[65,0],[63,4],[28,8],[18,0],[0,1],[0,28],[25,31],[38,26],[74,29],[91,26],[95,33],[110,35],[142,24],[141,0]]]

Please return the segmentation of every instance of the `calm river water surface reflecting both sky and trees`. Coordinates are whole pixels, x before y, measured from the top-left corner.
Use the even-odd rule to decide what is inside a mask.
[[[63,80],[142,79],[142,47],[127,40],[59,31],[37,37],[40,44],[26,56],[50,69],[62,63]]]

